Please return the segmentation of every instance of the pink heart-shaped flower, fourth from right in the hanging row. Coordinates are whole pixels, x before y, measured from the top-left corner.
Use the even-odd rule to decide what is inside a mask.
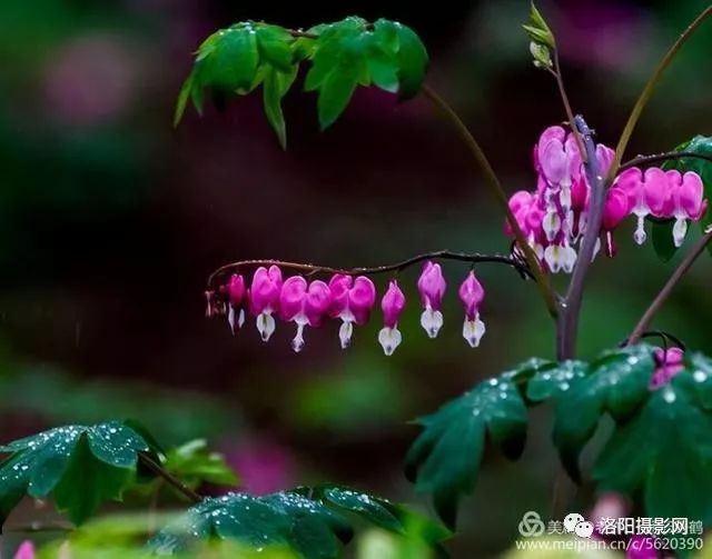
[[[337,273],[329,281],[329,290],[332,292],[329,316],[342,319],[338,337],[342,348],[346,349],[354,333],[354,323],[364,326],[368,321],[370,309],[376,303],[376,287],[365,276],[354,279],[350,276]]]

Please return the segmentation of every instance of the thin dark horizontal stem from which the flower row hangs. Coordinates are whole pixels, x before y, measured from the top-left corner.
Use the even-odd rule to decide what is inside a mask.
[[[293,270],[300,270],[307,272],[307,274],[315,273],[343,273],[345,276],[372,276],[386,272],[399,272],[406,268],[423,262],[425,260],[456,260],[459,262],[476,263],[501,263],[514,268],[524,279],[534,279],[534,274],[526,266],[525,262],[517,260],[516,258],[506,257],[502,254],[481,254],[473,253],[467,254],[465,252],[454,252],[452,250],[437,250],[435,252],[426,252],[424,254],[417,254],[400,262],[386,266],[376,266],[372,268],[332,268],[328,266],[316,266],[301,262],[285,262],[283,260],[243,260],[239,262],[231,262],[229,264],[221,266],[215,270],[208,278],[208,288],[214,287],[215,280],[229,271],[238,271],[243,267],[255,266],[279,266],[281,268],[290,268]]]

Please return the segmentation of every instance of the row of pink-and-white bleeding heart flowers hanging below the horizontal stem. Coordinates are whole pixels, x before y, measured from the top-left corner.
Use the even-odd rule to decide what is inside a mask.
[[[421,325],[428,337],[435,338],[443,327],[442,303],[447,287],[441,264],[427,261],[417,287],[423,305]],[[458,295],[465,308],[463,337],[474,348],[485,333],[485,325],[479,319],[479,305],[485,291],[473,271],[461,285]],[[275,318],[294,322],[297,332],[291,347],[299,352],[305,343],[305,328],[318,328],[326,319],[342,321],[339,341],[342,348],[347,348],[354,326],[364,326],[370,317],[376,305],[376,287],[365,276],[354,278],[343,273],[334,274],[328,283],[322,280],[309,282],[303,276],[284,279],[281,269],[270,266],[255,271],[249,288],[241,274],[234,273],[216,291],[207,291],[206,298],[206,316],[227,316],[234,333],[245,325],[247,313],[255,317],[263,341],[268,341],[274,333]],[[400,345],[398,319],[405,303],[405,295],[397,281],[392,280],[380,300],[384,327],[378,332],[378,341],[387,356]]]

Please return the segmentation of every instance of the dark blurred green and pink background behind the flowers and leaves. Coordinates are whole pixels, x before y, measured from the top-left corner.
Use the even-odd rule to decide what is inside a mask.
[[[650,70],[704,4],[541,2],[574,110],[600,141],[615,144]],[[417,270],[404,272],[409,306],[393,358],[376,342],[379,313],[348,351],[329,325],[308,331],[295,356],[291,325],[267,347],[251,325],[234,338],[222,320],[205,320],[202,291],[214,268],[248,258],[353,267],[441,248],[507,251],[502,217],[464,148],[425,100],[398,104],[376,90],[359,90],[320,133],[315,97],[295,88],[286,153],[258,96],[224,114],[190,111],[177,130],[174,102],[192,50],[218,27],[397,19],[423,37],[429,82],[471,126],[507,190],[531,189],[532,147],[564,112],[551,77],[531,64],[518,28],[527,11],[525,0],[0,2],[2,440],[132,417],[166,445],[207,437],[249,491],[330,480],[417,501],[400,472],[417,432],[408,420],[521,359],[552,356],[553,328],[533,285],[507,269],[477,269],[487,335],[472,350],[455,297],[466,269],[446,266],[436,340],[418,326]],[[712,28],[703,28],[645,110],[630,157],[712,133],[702,70],[711,49]],[[593,268],[584,358],[627,336],[680,258],[659,262],[631,232],[626,223],[619,257]],[[700,261],[655,320],[706,351],[711,270]],[[486,457],[464,503],[456,557],[495,553],[516,537],[524,511],[548,513],[557,466],[547,410],[532,418],[518,463]],[[585,488],[577,493],[580,509],[586,497]]]

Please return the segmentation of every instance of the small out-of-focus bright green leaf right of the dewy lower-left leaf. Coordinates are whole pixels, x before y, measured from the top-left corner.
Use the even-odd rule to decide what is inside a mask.
[[[188,487],[196,489],[201,483],[236,486],[238,477],[225,462],[222,455],[208,450],[204,439],[196,439],[171,449],[166,455],[164,468]]]

